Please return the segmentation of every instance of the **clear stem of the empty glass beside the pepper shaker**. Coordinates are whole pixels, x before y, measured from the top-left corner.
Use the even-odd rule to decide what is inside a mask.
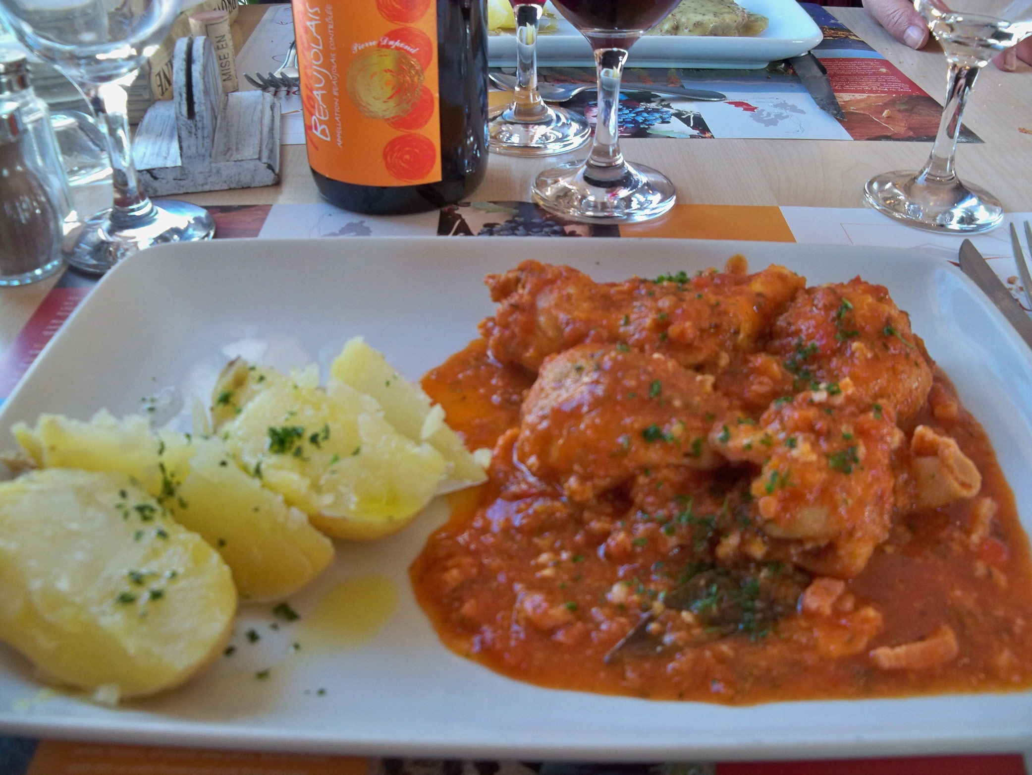
[[[129,116],[126,112],[126,90],[120,83],[87,84],[83,88],[90,106],[101,120],[111,157],[111,184],[115,189],[111,227],[115,230],[138,227],[151,216],[154,205],[139,190],[136,165],[129,140]]]

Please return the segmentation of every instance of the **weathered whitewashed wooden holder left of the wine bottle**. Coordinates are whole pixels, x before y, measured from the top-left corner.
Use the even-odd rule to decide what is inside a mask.
[[[280,103],[259,91],[223,94],[212,42],[175,42],[172,99],[136,129],[133,158],[148,196],[270,186],[280,180]]]

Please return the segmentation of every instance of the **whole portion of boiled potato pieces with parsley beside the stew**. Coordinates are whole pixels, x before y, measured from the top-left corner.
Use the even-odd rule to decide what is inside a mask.
[[[17,424],[6,462],[29,470],[0,484],[0,640],[103,702],[151,694],[220,653],[237,590],[283,599],[325,569],[316,527],[382,537],[486,478],[380,352],[352,340],[333,373],[324,389],[316,367],[231,362],[195,416],[214,435],[105,410]]]

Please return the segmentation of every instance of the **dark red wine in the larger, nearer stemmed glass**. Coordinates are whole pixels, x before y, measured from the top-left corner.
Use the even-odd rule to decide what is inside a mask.
[[[680,0],[554,0],[592,49],[630,49]]]

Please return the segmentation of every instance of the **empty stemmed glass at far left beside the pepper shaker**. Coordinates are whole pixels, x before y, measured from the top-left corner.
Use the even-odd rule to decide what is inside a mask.
[[[86,222],[66,255],[86,272],[106,272],[150,245],[215,234],[203,208],[151,202],[139,190],[132,160],[126,88],[179,12],[179,0],[0,0],[0,19],[82,89],[106,132],[114,207]]]

